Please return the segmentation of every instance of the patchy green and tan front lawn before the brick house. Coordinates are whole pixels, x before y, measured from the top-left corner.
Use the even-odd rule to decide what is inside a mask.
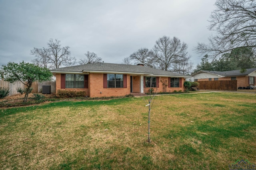
[[[256,163],[255,94],[64,101],[0,110],[2,169],[228,169]]]

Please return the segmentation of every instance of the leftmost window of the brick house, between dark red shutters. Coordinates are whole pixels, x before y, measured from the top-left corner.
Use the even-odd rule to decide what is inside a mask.
[[[84,75],[66,74],[66,88],[84,88]]]

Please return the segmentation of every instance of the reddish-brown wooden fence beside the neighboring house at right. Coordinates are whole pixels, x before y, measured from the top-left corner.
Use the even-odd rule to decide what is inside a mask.
[[[199,88],[205,90],[237,90],[237,80],[199,81]]]

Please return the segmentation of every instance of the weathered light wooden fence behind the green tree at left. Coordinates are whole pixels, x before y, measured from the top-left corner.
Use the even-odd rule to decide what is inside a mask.
[[[32,93],[42,93],[42,85],[51,85],[51,93],[56,93],[56,82],[33,82],[32,83]],[[9,83],[3,80],[0,80],[0,87],[9,88],[10,94],[9,96],[20,94],[17,92],[18,88],[26,88],[22,82],[18,81],[15,83]]]

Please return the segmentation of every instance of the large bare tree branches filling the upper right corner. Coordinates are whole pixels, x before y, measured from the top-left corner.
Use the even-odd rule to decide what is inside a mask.
[[[198,43],[194,50],[213,59],[222,53],[231,53],[241,47],[256,49],[256,1],[217,0],[216,10],[210,16],[209,29],[216,35],[208,38],[209,43]]]

